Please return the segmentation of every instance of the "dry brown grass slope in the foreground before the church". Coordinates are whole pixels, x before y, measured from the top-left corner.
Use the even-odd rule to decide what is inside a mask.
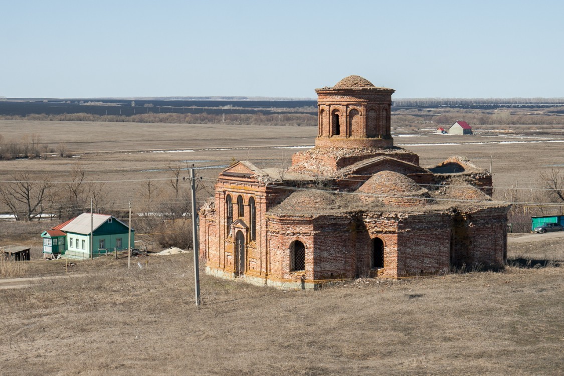
[[[510,259],[554,241],[512,240]],[[557,265],[289,292],[202,276],[197,308],[189,254],[30,262],[35,285],[0,282],[0,373],[559,375]]]

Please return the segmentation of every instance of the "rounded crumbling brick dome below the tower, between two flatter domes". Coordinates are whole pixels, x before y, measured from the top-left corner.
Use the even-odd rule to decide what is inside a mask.
[[[360,200],[373,202],[380,200],[386,205],[415,206],[425,204],[429,198],[429,191],[421,188],[411,178],[394,171],[380,171],[356,190],[361,195]],[[373,196],[371,196],[373,195]]]

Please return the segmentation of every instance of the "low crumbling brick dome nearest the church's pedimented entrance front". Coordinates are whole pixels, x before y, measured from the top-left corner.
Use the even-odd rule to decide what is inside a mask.
[[[340,210],[340,200],[335,193],[320,191],[297,191],[286,198],[271,213],[323,214],[324,211]]]

